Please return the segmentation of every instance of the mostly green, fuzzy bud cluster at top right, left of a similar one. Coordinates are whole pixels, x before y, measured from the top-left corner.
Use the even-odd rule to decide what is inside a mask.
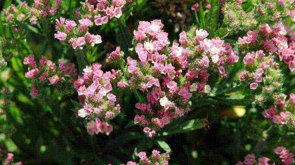
[[[221,11],[224,14],[223,23],[227,25],[229,30],[248,30],[257,24],[254,11],[244,11],[239,1],[225,1]]]

